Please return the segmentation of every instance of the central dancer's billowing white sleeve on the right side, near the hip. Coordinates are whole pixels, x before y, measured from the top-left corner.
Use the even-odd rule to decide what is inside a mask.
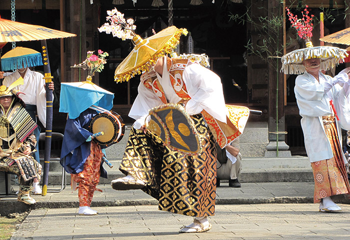
[[[214,118],[226,122],[227,108],[223,98],[220,77],[209,69],[193,63],[183,71],[183,81],[188,95],[186,111],[193,115],[203,109]]]

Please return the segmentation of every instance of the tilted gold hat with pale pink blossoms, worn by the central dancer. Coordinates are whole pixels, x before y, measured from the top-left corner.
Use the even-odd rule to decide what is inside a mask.
[[[125,57],[125,59],[117,66],[114,73],[114,80],[116,82],[128,81],[136,74],[147,71],[152,63],[154,63],[159,56],[171,53],[173,48],[179,43],[181,34],[186,35],[185,28],[176,28],[169,26],[154,35],[142,39],[139,35],[134,33],[136,28],[133,25],[132,19],[125,20],[124,14],[121,14],[114,8],[107,11],[107,23],[104,23],[98,30],[105,31],[107,34],[112,33],[122,40],[131,39],[134,48]]]

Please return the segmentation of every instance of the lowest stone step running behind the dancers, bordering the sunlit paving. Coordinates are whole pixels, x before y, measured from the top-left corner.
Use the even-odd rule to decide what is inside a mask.
[[[242,182],[242,187],[228,187],[222,182],[216,188],[216,204],[255,204],[255,203],[312,203],[313,182]],[[97,186],[91,206],[156,205],[157,200],[141,190],[116,191],[109,184]],[[17,187],[13,187],[17,190]],[[49,186],[48,188],[52,188]],[[23,212],[35,208],[78,207],[77,191],[70,186],[58,193],[48,192],[45,196],[32,195],[35,205],[16,201],[16,196],[0,196],[0,214]],[[342,201],[350,203],[350,201]]]

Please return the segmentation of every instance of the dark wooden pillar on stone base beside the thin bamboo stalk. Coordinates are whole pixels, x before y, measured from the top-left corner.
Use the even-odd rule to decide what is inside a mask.
[[[268,18],[272,19],[275,16],[282,15],[282,4],[278,0],[268,1]],[[275,36],[276,43],[269,46],[270,52],[278,50],[282,52],[283,42],[283,27],[278,29],[278,34],[275,35],[276,29],[270,29],[269,35]],[[277,49],[278,48],[278,49]],[[278,55],[279,57],[281,54]],[[289,146],[285,144],[285,118],[284,118],[284,79],[281,68],[280,58],[277,55],[268,59],[268,140],[265,156],[285,157],[290,156]],[[277,124],[278,123],[278,124]]]

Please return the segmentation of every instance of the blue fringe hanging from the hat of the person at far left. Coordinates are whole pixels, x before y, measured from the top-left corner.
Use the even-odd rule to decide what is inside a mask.
[[[41,53],[22,55],[20,57],[6,57],[1,59],[1,68],[3,71],[38,65],[42,65]]]

